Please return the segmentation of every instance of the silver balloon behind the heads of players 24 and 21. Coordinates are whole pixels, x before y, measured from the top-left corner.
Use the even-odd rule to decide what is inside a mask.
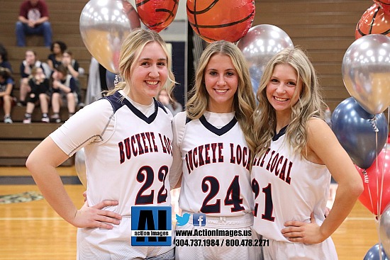
[[[284,30],[270,24],[253,26],[238,41],[237,46],[247,60],[255,93],[267,62],[281,50],[294,47],[289,35]]]

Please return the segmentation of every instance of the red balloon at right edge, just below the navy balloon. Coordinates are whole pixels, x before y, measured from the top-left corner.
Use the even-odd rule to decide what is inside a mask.
[[[359,197],[360,202],[375,215],[378,215],[378,211],[379,214],[383,213],[386,205],[390,203],[390,145],[384,145],[377,159],[366,170],[366,176],[363,174],[364,169],[355,167],[364,183],[364,191]]]

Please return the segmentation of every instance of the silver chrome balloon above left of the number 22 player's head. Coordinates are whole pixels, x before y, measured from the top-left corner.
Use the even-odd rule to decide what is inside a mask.
[[[90,0],[82,9],[80,34],[91,55],[108,71],[118,73],[121,45],[140,18],[125,0]]]

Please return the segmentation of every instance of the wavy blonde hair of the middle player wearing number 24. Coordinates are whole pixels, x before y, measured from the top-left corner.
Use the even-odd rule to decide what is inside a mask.
[[[233,63],[238,74],[238,89],[234,94],[233,108],[240,128],[243,130],[248,147],[255,152],[255,137],[253,135],[253,109],[255,108],[255,95],[250,81],[249,69],[243,52],[225,40],[219,40],[206,47],[199,59],[195,73],[194,87],[189,91],[189,101],[186,103],[187,116],[199,119],[208,106],[208,92],[204,83],[204,72],[211,57],[216,54],[227,55]]]

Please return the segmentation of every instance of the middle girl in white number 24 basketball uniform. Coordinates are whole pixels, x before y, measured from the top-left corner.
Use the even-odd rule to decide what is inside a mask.
[[[252,231],[250,188],[255,96],[243,53],[233,43],[211,43],[195,77],[186,111],[172,122],[169,176],[171,186],[182,178],[179,208],[191,215],[176,230],[200,230],[203,235],[177,236],[177,242],[189,243],[176,244],[176,259],[258,259],[258,249],[245,244],[257,235]],[[194,213],[206,214],[206,225],[193,225]],[[209,239],[213,242],[207,247]]]

